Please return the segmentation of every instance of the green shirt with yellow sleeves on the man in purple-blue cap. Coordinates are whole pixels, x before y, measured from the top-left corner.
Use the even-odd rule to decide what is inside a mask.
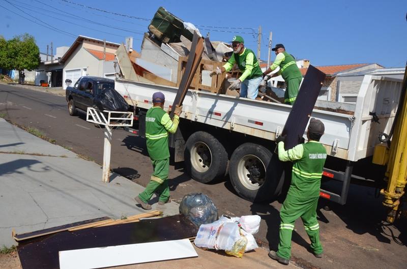
[[[177,131],[180,117],[174,115],[171,120],[162,108],[152,107],[146,114],[146,139],[147,151],[152,160],[169,158],[168,132]]]

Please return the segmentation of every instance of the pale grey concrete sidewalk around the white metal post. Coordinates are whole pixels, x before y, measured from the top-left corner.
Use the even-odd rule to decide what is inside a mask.
[[[143,189],[116,174],[110,183],[103,183],[99,164],[0,118],[0,247],[16,245],[13,228],[24,233],[146,212],[133,199]],[[164,215],[179,214],[176,203],[155,203],[153,209]]]

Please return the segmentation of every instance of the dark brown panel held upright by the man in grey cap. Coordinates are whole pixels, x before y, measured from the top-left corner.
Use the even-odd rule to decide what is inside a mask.
[[[296,102],[291,109],[281,135],[287,135],[284,141],[285,150],[292,149],[300,143],[305,127],[321,91],[325,73],[309,65],[301,84]]]

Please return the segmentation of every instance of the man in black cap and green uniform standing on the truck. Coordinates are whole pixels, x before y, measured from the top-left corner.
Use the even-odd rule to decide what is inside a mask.
[[[263,73],[263,78],[276,70],[277,66],[280,66],[280,70],[271,77],[279,75],[283,77],[285,84],[287,85],[284,93],[284,103],[294,105],[302,80],[301,71],[298,69],[293,55],[288,54],[285,51],[283,44],[277,44],[272,50],[276,53],[276,59],[270,68]]]

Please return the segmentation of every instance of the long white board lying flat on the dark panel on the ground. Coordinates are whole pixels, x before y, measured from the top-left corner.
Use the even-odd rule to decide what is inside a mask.
[[[197,257],[188,239],[60,251],[61,269],[119,266]]]

